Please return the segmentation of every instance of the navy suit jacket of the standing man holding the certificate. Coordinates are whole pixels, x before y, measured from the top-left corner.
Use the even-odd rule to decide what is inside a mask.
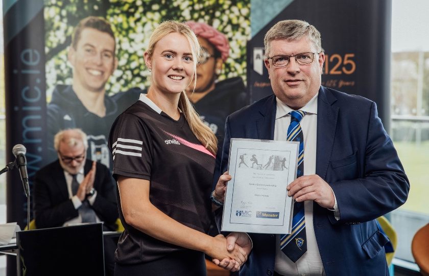
[[[317,105],[316,174],[335,193],[341,216],[337,221],[332,211],[314,202],[313,223],[326,275],[389,275],[383,247],[388,239],[375,219],[407,200],[407,175],[374,102],[321,86]],[[275,114],[272,95],[228,117],[218,178],[227,170],[230,139],[273,140]],[[218,210],[218,226],[221,217]],[[272,275],[275,235],[249,235],[253,249],[240,275]]]

